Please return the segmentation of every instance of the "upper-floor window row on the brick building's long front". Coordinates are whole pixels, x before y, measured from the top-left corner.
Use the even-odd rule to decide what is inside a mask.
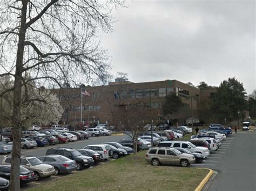
[[[155,88],[155,89],[136,89],[136,90],[126,90],[114,91],[115,99],[124,98],[149,98],[149,97],[165,97],[167,94],[173,93],[173,88]]]

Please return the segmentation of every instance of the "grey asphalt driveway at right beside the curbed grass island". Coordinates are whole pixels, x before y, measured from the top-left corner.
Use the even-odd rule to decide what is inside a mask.
[[[256,130],[238,131],[228,136],[217,152],[203,164],[191,167],[211,168],[217,171],[207,190],[256,190]]]

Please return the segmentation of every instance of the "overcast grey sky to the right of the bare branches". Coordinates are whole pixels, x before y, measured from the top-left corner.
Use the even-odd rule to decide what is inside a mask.
[[[219,86],[236,77],[255,89],[255,1],[128,1],[101,37],[111,73],[129,81]]]

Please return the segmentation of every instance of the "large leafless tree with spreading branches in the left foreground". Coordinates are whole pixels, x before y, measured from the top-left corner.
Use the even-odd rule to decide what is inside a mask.
[[[12,123],[15,128],[10,190],[19,190],[21,110],[22,104],[31,101],[26,98],[26,89],[42,84],[55,87],[69,83],[72,86],[107,73],[106,52],[95,37],[98,27],[112,30],[111,4],[118,6],[123,2],[0,2],[0,76],[10,76],[14,80],[14,86],[0,93],[3,96],[13,91]],[[25,89],[24,98],[22,88]]]

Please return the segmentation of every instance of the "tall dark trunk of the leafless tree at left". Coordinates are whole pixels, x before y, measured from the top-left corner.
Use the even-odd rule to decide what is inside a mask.
[[[19,160],[21,158],[21,136],[22,136],[22,123],[21,123],[21,90],[22,90],[22,72],[23,72],[23,54],[24,54],[24,41],[26,33],[26,9],[28,2],[22,2],[21,10],[21,26],[19,29],[19,40],[17,47],[16,70],[14,81],[14,108],[12,112],[12,123],[14,125],[13,144],[11,153],[11,186],[10,190],[19,190]]]

